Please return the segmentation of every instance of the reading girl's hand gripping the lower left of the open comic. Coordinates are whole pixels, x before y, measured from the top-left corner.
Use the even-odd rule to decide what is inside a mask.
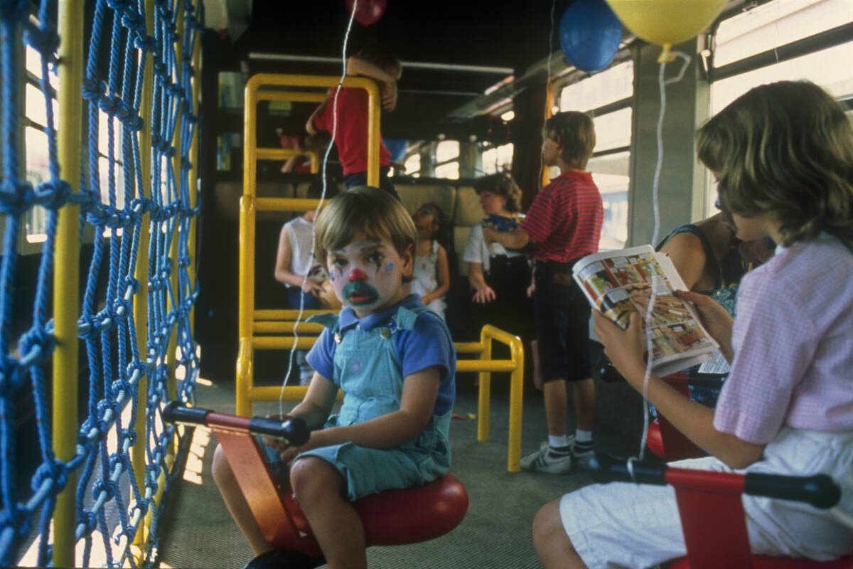
[[[606,356],[625,380],[635,389],[642,389],[642,381],[646,376],[646,361],[643,357],[646,346],[642,341],[640,313],[630,314],[627,330],[608,320],[601,311],[593,309],[592,316],[595,321],[595,335],[604,345]]]

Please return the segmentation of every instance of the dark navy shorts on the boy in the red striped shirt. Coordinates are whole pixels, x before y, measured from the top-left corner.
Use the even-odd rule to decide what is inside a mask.
[[[573,264],[536,262],[533,316],[543,381],[592,377],[589,363],[592,307],[572,278]]]

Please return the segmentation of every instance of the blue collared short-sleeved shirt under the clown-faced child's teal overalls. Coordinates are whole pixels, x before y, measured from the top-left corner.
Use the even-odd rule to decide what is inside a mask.
[[[421,301],[416,294],[410,294],[398,305],[386,311],[365,316],[359,320],[349,306],[339,313],[338,326],[341,330],[361,326],[363,330],[385,327],[397,314],[397,308],[419,308]],[[441,381],[438,386],[438,398],[435,402],[435,415],[444,415],[453,408],[456,397],[456,349],[450,332],[444,322],[432,312],[424,312],[415,320],[415,328],[411,330],[398,329],[393,336],[394,348],[402,364],[403,378],[415,374],[421,369],[438,366],[438,376]],[[324,329],[314,347],[308,352],[307,360],[310,366],[328,380],[334,380],[334,351],[337,344],[334,332]]]

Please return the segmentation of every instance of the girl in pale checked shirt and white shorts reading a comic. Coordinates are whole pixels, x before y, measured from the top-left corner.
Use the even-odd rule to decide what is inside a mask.
[[[769,235],[775,257],[748,273],[733,321],[698,293],[692,301],[732,364],[717,409],[654,374],[647,398],[711,456],[679,467],[806,476],[841,487],[830,510],[744,496],[757,554],[832,560],[853,553],[853,129],[808,82],[748,91],[697,136],[699,160],[719,182],[737,236]],[[623,331],[593,311],[618,371],[643,390],[640,316]],[[713,523],[713,522],[711,522]],[[685,554],[670,487],[592,485],[546,504],[533,540],[550,567],[652,566]],[[720,544],[725,547],[724,543]]]

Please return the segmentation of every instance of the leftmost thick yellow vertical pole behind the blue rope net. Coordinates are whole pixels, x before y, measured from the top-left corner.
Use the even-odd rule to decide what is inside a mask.
[[[83,99],[84,0],[60,0],[59,13],[59,125],[57,145],[60,176],[78,191],[80,180],[80,132]],[[77,446],[77,370],[79,316],[79,206],[68,202],[59,210],[56,229],[54,274],[53,444],[62,462],[73,459]],[[53,566],[74,565],[77,473],[68,473],[65,489],[54,509]]]

